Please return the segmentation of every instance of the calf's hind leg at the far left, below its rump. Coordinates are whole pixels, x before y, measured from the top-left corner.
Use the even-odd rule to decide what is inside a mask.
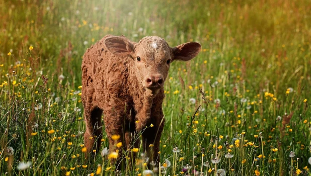
[[[87,127],[84,134],[84,142],[89,153],[93,152],[93,150],[96,150],[96,152],[100,150],[103,128],[101,122],[102,113],[103,110],[98,107],[84,113]],[[96,145],[94,145],[95,141],[97,142]]]

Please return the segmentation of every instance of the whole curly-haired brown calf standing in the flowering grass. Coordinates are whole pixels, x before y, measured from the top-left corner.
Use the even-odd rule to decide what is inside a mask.
[[[110,150],[115,149],[117,142],[123,141],[125,150],[138,147],[138,142],[131,136],[144,130],[144,151],[147,157],[159,161],[160,137],[164,128],[163,85],[170,62],[190,60],[200,50],[201,45],[195,42],[171,48],[160,37],[145,37],[135,43],[124,36],[111,35],[89,48],[82,62],[82,102],[88,152],[100,149],[104,112]],[[152,128],[149,127],[151,124]],[[149,128],[145,129],[146,126]],[[120,135],[120,139],[113,141],[111,136],[114,134]],[[97,145],[94,145],[95,140]],[[148,151],[150,144],[153,144],[152,151]]]

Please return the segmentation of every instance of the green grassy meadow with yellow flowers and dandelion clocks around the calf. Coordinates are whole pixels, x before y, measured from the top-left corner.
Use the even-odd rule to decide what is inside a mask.
[[[0,0],[0,19],[0,175],[311,174],[308,0]],[[82,57],[107,34],[202,45],[171,65],[160,165],[140,143],[116,170],[106,133],[85,158]]]

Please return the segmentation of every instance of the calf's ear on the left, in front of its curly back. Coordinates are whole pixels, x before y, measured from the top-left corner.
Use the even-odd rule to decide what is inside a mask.
[[[122,36],[113,36],[105,39],[105,45],[115,55],[125,56],[134,53],[134,45]]]

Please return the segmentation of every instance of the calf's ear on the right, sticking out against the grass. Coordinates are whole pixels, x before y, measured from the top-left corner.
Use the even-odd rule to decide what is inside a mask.
[[[197,42],[188,42],[172,48],[173,60],[188,61],[193,59],[201,51],[201,45]]]

